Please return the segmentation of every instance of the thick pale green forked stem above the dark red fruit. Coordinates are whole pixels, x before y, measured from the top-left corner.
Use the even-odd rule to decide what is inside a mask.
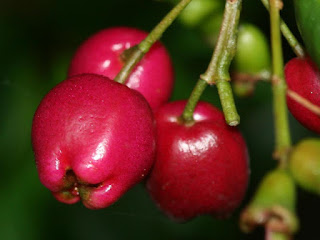
[[[193,120],[194,109],[206,85],[216,84],[227,124],[236,126],[240,123],[240,117],[234,103],[231,85],[229,83],[229,67],[237,47],[236,40],[241,6],[242,0],[226,1],[223,21],[212,59],[206,72],[200,75],[200,80],[189,97],[188,103],[182,114],[182,118],[185,121]]]

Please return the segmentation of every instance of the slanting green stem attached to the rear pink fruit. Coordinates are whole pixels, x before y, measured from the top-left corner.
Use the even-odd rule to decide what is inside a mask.
[[[191,2],[191,0],[181,0],[142,40],[132,51],[126,61],[124,67],[120,70],[114,81],[124,84],[129,77],[133,68],[139,63],[143,56],[149,51],[152,45],[161,38],[164,31],[172,24],[183,9]],[[128,49],[129,50],[129,49]]]

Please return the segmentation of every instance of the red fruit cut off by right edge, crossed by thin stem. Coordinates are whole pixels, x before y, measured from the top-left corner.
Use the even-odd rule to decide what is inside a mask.
[[[288,89],[320,106],[320,73],[310,58],[293,58],[285,66]],[[320,134],[320,117],[287,96],[292,115],[306,128]]]

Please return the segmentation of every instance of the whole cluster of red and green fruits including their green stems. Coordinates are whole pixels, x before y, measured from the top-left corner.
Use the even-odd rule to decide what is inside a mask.
[[[279,160],[241,214],[241,227],[250,231],[265,225],[267,239],[288,239],[299,225],[294,180],[320,192],[319,140],[292,148],[287,116],[288,106],[299,122],[320,134],[320,54],[310,32],[318,30],[301,20],[309,9],[305,6],[320,9],[320,4],[295,1],[307,49],[315,49],[308,57],[285,23],[280,24],[275,1],[269,6],[262,0],[273,11],[271,69],[264,34],[252,24],[238,27],[241,0],[226,1],[223,17],[214,18],[222,21],[220,31],[210,19],[222,9],[221,2],[194,0],[180,20],[198,27],[216,48],[190,98],[169,102],[174,71],[157,40],[189,2],[179,1],[150,34],[114,27],[78,48],[68,78],[44,97],[34,116],[32,143],[40,180],[61,202],[82,200],[86,207],[100,209],[145,178],[151,198],[172,219],[229,216],[244,197],[250,173],[247,146],[235,127],[239,116],[229,83],[231,66],[239,96],[252,94],[259,80],[272,84],[274,157]],[[210,36],[208,26],[214,29]],[[298,55],[285,69],[280,29]],[[199,101],[208,84],[216,84],[223,112]]]

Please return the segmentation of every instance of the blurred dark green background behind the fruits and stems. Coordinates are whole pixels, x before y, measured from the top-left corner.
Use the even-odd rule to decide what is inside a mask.
[[[282,15],[295,31],[291,1]],[[30,142],[33,114],[41,98],[64,80],[72,53],[96,31],[126,25],[150,31],[171,5],[153,0],[1,0],[0,2],[0,239],[262,239],[263,230],[244,235],[239,210],[228,220],[203,216],[185,224],[170,221],[140,184],[113,206],[99,211],[82,204],[57,202],[37,176]],[[244,1],[242,21],[253,22],[268,36],[269,17],[260,1]],[[172,99],[187,98],[211,57],[194,29],[175,22],[164,34],[175,67]],[[285,60],[294,57],[284,42]],[[220,107],[214,87],[203,99]],[[248,202],[272,160],[271,89],[259,83],[252,98],[236,99],[241,130],[251,156]],[[290,116],[293,142],[313,136]],[[234,173],[236,174],[236,172]],[[319,199],[298,196],[301,231],[297,239],[319,239]]]

